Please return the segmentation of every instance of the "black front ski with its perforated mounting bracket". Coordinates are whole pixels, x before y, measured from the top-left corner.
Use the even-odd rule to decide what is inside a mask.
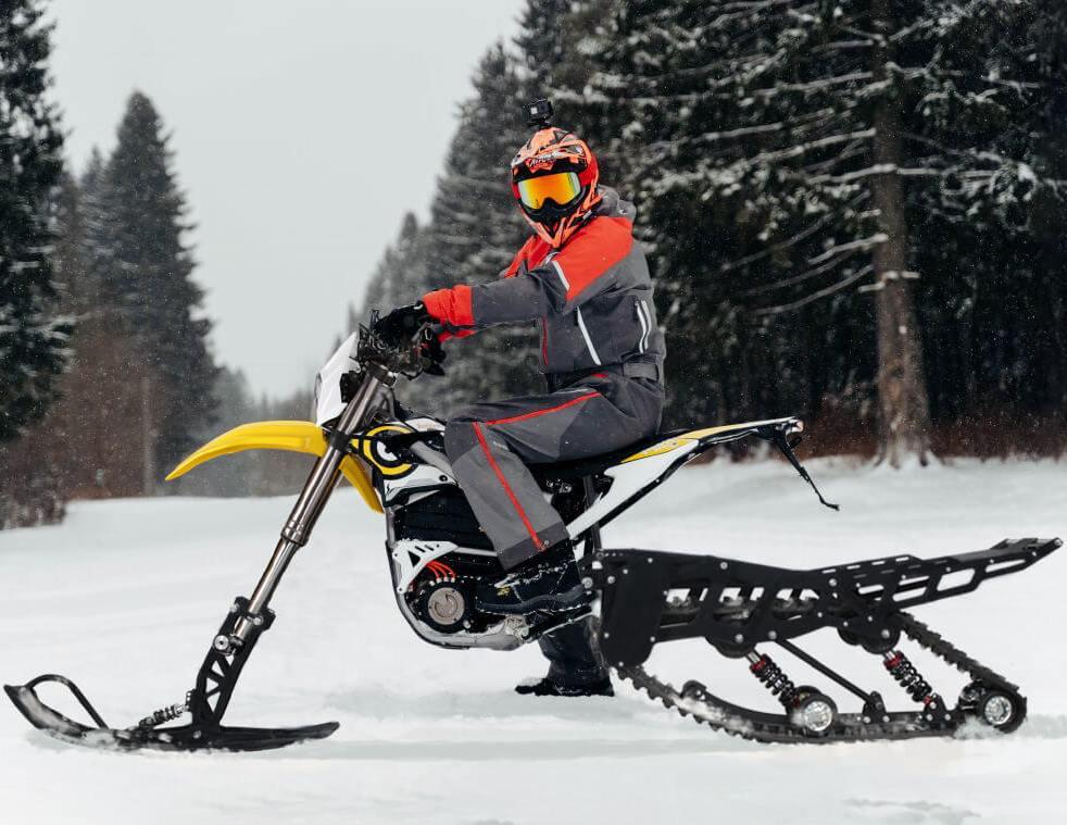
[[[324,739],[337,730],[338,723],[274,728],[228,727],[222,724],[237,687],[237,679],[252,654],[255,642],[269,629],[273,622],[273,611],[264,610],[260,614],[252,614],[249,612],[248,599],[235,599],[200,665],[196,686],[188,692],[185,702],[158,710],[127,728],[109,727],[85,693],[65,676],[45,674],[25,685],[4,685],[3,689],[34,727],[75,745],[111,750],[254,751],[281,748],[307,739]],[[231,640],[238,623],[243,623],[248,629],[244,640],[235,645]],[[48,683],[65,687],[92,720],[93,725],[76,722],[42,701],[37,687]],[[163,726],[185,713],[191,716],[188,724]]]

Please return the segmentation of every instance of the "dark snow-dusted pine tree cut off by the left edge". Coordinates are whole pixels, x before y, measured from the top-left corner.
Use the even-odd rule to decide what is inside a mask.
[[[63,135],[46,99],[51,27],[42,14],[35,0],[0,4],[0,441],[45,414],[72,332],[57,314],[50,260]]]

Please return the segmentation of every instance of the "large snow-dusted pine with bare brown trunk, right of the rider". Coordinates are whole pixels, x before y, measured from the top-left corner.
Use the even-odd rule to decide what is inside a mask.
[[[665,318],[681,342],[698,342],[703,324],[714,341],[705,361],[725,346],[736,364],[731,355],[752,349],[751,333],[729,323],[739,310],[776,323],[826,299],[824,320],[854,322],[863,285],[874,293],[881,454],[893,465],[925,458],[916,233],[931,214],[964,217],[1025,186],[1054,189],[1017,152],[988,151],[1027,105],[996,48],[1021,9],[620,4],[593,103],[615,111],[613,154],[631,159],[627,173],[653,215],[650,239],[671,282]]]

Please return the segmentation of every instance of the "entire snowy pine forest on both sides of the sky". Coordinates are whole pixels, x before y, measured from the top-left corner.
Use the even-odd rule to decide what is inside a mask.
[[[43,13],[0,10],[0,527],[156,495],[199,440],[309,404],[253,398],[216,362],[148,96],[129,97],[110,154],[71,168]],[[815,453],[891,466],[1062,454],[1062,2],[528,0],[517,32],[481,57],[428,215],[411,204],[339,333],[498,277],[528,233],[507,164],[524,105],[547,97],[637,205],[665,427],[796,414]],[[530,342],[523,327],[450,342],[448,377],[405,400],[443,416],[537,391]],[[250,459],[180,491],[298,475]]]

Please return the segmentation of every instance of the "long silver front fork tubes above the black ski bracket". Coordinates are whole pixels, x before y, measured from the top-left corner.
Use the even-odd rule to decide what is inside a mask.
[[[307,476],[297,503],[293,504],[292,512],[281,529],[281,538],[274,548],[271,561],[267,562],[259,584],[255,585],[255,589],[249,598],[248,615],[251,618],[241,617],[234,628],[234,636],[237,637],[234,641],[237,643],[246,640],[251,622],[266,610],[281,576],[289,566],[289,562],[292,561],[292,557],[311,538],[312,528],[318,521],[318,516],[340,478],[341,461],[346,455],[349,436],[359,429],[367,411],[378,400],[382,386],[390,384],[391,378],[392,375],[381,367],[375,365],[368,367],[368,374],[363,379],[363,384],[360,385],[355,396],[349,401],[344,412],[338,418],[335,430],[337,435],[330,439],[326,452],[315,462],[315,466],[312,468],[311,475]]]

